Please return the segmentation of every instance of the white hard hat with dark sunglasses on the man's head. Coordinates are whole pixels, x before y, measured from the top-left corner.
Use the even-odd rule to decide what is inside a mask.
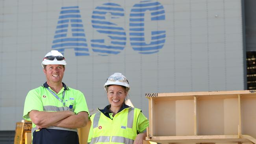
[[[67,63],[58,50],[51,50],[43,59],[42,66],[44,67],[44,65],[67,65]]]

